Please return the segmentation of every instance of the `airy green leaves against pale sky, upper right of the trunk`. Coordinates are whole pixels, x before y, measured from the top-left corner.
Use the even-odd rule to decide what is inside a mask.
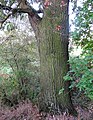
[[[93,0],[86,0],[82,7],[77,8],[74,23],[75,31],[72,33],[72,37],[76,45],[80,45],[82,48],[93,46]]]

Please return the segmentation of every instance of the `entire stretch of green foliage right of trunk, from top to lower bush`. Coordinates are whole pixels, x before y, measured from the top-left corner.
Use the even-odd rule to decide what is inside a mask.
[[[70,88],[79,88],[93,99],[93,0],[82,1],[75,12],[72,40],[76,46],[81,46],[82,54],[70,58],[71,69],[64,79],[71,81]]]

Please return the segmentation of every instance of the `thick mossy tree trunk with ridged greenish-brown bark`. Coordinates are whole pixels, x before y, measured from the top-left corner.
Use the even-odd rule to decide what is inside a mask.
[[[45,16],[40,23],[34,23],[29,16],[39,43],[41,70],[39,107],[43,111],[61,110],[73,114],[75,110],[71,102],[69,82],[63,79],[69,69],[69,1],[64,0],[62,7],[61,0],[54,1],[53,5],[45,10]],[[59,94],[60,89],[64,89],[62,94]]]

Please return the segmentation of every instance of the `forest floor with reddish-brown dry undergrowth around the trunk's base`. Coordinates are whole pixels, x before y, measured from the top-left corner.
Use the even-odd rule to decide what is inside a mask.
[[[47,113],[39,113],[36,105],[30,101],[24,101],[12,108],[0,107],[0,120],[93,120],[93,102],[81,94],[79,97],[73,97],[73,103],[78,117],[65,112],[52,116]]]

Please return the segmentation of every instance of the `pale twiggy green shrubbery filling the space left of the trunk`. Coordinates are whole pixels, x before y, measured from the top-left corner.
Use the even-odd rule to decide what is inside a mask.
[[[29,36],[16,31],[3,38],[0,44],[0,72],[0,98],[6,101],[4,104],[9,101],[10,105],[14,105],[27,98],[36,101],[40,88],[35,41],[29,41]]]

